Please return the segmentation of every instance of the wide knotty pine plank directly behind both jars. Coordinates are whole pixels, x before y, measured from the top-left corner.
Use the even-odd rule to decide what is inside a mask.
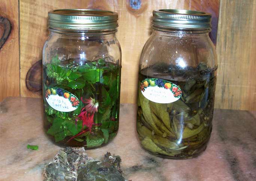
[[[42,59],[42,47],[48,36],[48,11],[62,8],[106,9],[118,12],[117,37],[122,47],[121,102],[135,103],[138,61],[141,50],[152,32],[150,27],[152,11],[170,8],[211,12],[216,21],[214,41],[219,0],[20,0],[21,96],[41,96],[41,92],[32,92],[27,89],[25,77],[30,67]],[[130,83],[124,85],[127,81]]]

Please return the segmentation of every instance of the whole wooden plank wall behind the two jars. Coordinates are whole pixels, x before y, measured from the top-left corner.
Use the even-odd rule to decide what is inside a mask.
[[[0,1],[7,2],[7,0]],[[18,7],[18,0],[10,0],[10,2],[12,1],[14,3],[11,4],[16,2]],[[0,3],[1,12],[2,6],[2,3]],[[217,34],[219,0],[19,0],[20,79],[18,79],[17,75],[11,73],[17,73],[16,69],[10,70],[10,68],[7,68],[8,62],[15,62],[16,59],[10,59],[7,56],[9,59],[7,61],[3,54],[1,54],[3,48],[0,50],[0,60],[2,69],[2,60],[4,59],[3,65],[5,68],[3,69],[8,70],[7,74],[10,76],[10,79],[14,77],[13,80],[20,80],[21,96],[37,97],[41,95],[40,91],[35,92],[37,89],[31,89],[33,91],[28,89],[26,77],[33,74],[34,82],[32,81],[32,83],[34,83],[35,87],[39,84],[40,64],[36,64],[36,62],[42,59],[42,46],[48,35],[47,13],[49,10],[61,8],[107,9],[119,13],[117,36],[123,53],[122,82],[128,79],[130,82],[134,82],[129,85],[122,84],[121,102],[135,102],[138,59],[142,47],[150,35],[150,18],[152,17],[153,9],[196,9],[211,12],[215,22],[215,25],[213,24],[215,29],[213,29],[213,36],[211,38],[213,42],[216,42],[214,34]],[[252,28],[256,26],[255,10],[256,0],[220,1],[220,21],[217,37],[219,70],[215,104],[217,108],[256,109],[256,82],[253,79],[256,72],[253,71],[256,69],[256,57],[254,54],[256,47],[253,45],[255,35],[252,31]],[[17,11],[15,12],[17,13]],[[8,16],[12,16],[12,14],[9,13]],[[18,18],[15,18],[16,16],[12,17],[18,22]],[[18,33],[15,33],[15,36],[18,36]],[[15,65],[18,65],[16,63]],[[28,72],[33,65],[36,72],[33,69]],[[130,71],[131,69],[134,71]],[[12,93],[12,91],[8,93],[3,92],[2,83],[5,84],[6,80],[1,82],[0,101],[6,96],[17,95]],[[13,84],[19,85],[19,82],[13,82]],[[18,90],[19,92],[17,88],[6,88],[6,90],[9,89],[14,90],[14,92]]]

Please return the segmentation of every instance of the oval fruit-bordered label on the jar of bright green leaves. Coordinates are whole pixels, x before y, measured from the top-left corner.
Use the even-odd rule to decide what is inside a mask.
[[[45,98],[52,108],[61,112],[74,111],[79,105],[79,99],[75,95],[61,88],[48,87]]]

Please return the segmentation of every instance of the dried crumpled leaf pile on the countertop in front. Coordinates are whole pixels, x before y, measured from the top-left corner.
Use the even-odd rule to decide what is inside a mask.
[[[84,148],[67,147],[46,165],[43,177],[44,181],[125,181],[120,162],[109,152],[100,161],[88,157]]]

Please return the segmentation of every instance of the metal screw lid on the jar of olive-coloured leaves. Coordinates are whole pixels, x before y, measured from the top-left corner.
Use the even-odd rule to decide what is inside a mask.
[[[175,29],[210,29],[211,14],[182,9],[160,9],[153,11],[153,27]]]

